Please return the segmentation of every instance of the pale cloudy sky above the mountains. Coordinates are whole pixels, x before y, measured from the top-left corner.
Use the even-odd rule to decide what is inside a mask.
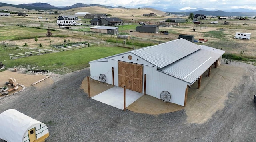
[[[48,3],[53,6],[72,6],[76,3],[83,4],[101,4],[106,6],[124,6],[126,8],[139,7],[158,7],[158,8],[177,8],[193,9],[204,8],[207,10],[230,10],[237,8],[256,9],[256,0],[5,0],[8,4],[30,4],[30,3]]]

